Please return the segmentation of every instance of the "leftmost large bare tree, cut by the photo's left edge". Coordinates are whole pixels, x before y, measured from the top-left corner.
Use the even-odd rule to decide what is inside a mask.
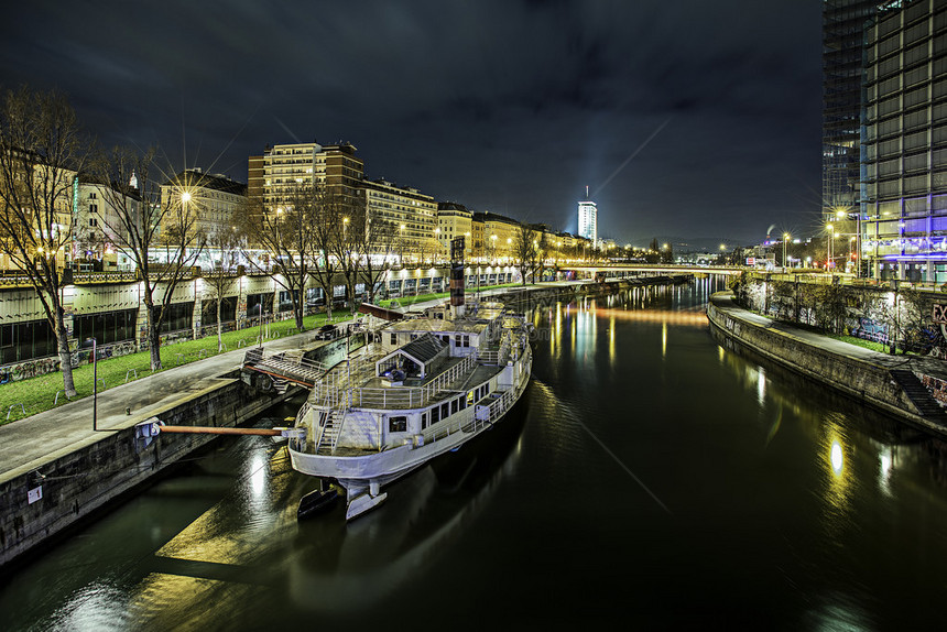
[[[73,187],[85,168],[89,143],[66,97],[8,91],[0,111],[0,252],[36,291],[56,336],[67,396],[73,382],[61,265],[73,231]]]

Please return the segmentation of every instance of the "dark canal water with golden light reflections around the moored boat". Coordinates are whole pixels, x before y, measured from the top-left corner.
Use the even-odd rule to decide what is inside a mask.
[[[0,630],[939,626],[944,445],[715,340],[720,286],[524,306],[521,404],[350,524],[221,440],[8,571]]]

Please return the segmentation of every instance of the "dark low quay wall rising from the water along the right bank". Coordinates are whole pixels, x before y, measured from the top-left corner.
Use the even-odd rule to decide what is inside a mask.
[[[779,331],[739,318],[714,299],[707,305],[711,328],[756,353],[832,386],[919,427],[943,434],[944,428],[925,419],[891,377],[889,370],[856,358],[839,356]]]

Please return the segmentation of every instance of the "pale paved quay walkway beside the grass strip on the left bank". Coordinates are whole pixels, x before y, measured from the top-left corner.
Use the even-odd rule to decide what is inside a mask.
[[[527,287],[555,287],[573,283],[543,283]],[[514,292],[518,287],[499,287],[480,292],[481,297]],[[438,305],[445,298],[416,303],[401,308],[417,313]],[[346,322],[338,323],[345,325]],[[315,331],[304,331],[266,340],[264,355],[298,349],[314,341]],[[94,399],[84,397],[63,406],[37,413],[0,426],[0,481],[36,469],[44,461],[67,454],[72,448],[95,443],[102,433],[130,427],[151,417],[182,394],[200,391],[220,375],[240,369],[247,347],[175,367],[148,378],[115,386],[98,394],[95,402],[96,428],[92,429]],[[130,414],[129,414],[130,411]]]

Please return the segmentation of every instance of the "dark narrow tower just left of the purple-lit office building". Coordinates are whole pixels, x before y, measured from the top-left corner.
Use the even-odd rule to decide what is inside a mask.
[[[823,6],[823,214],[855,214],[859,196],[862,42],[880,0]]]

